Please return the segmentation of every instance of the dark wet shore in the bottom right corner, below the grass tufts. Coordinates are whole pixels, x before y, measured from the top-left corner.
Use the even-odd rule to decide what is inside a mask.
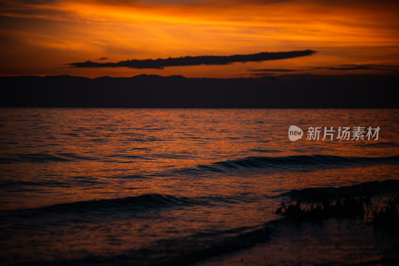
[[[285,219],[270,240],[191,266],[396,265],[399,239],[361,218]]]

